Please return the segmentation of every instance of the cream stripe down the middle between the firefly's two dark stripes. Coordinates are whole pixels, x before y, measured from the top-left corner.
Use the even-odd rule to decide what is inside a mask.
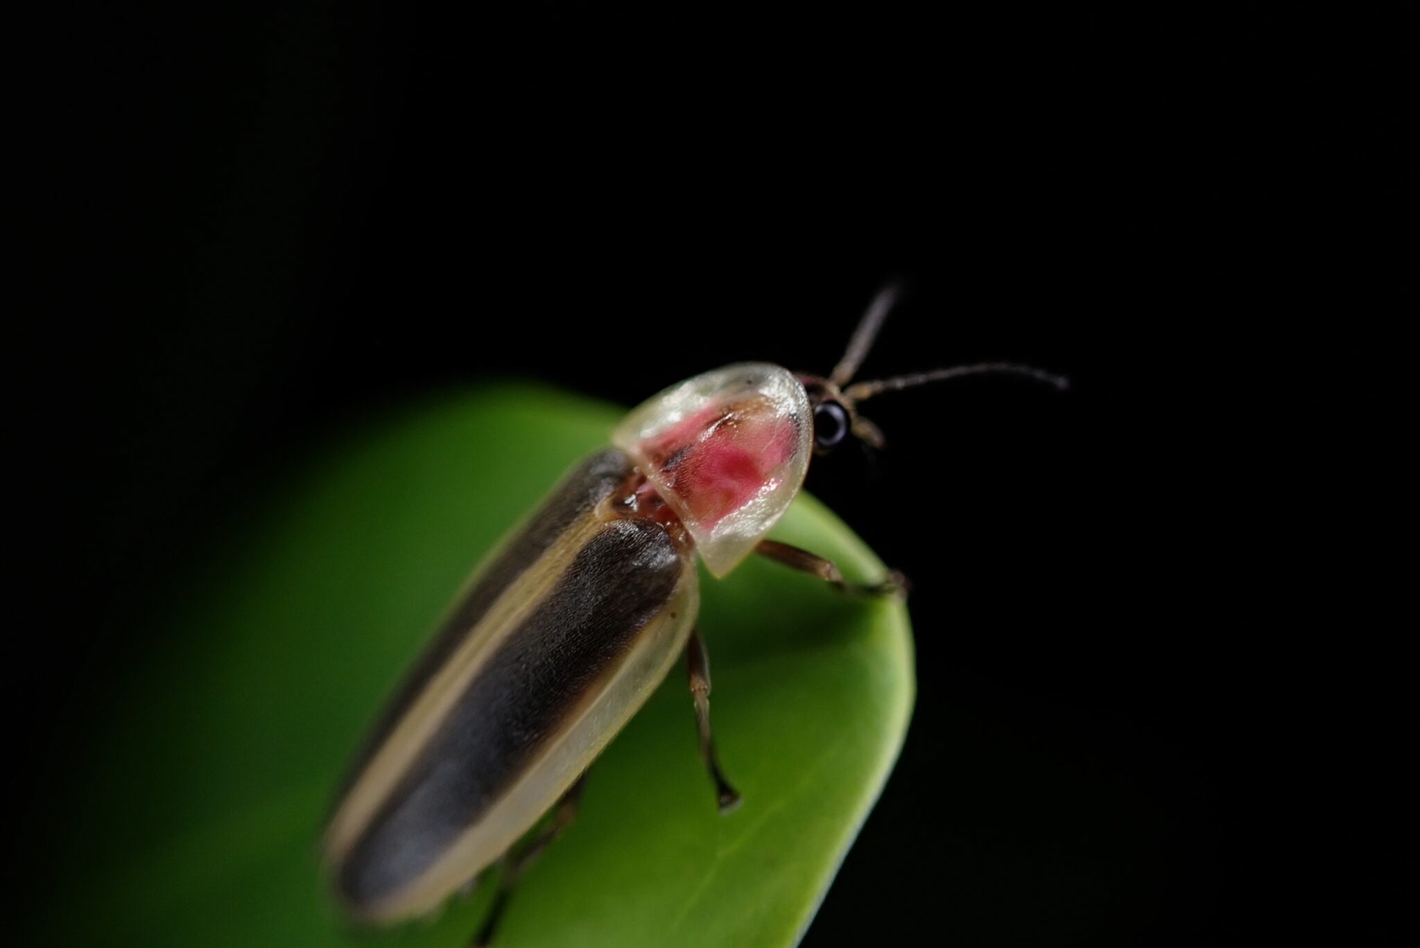
[[[459,702],[469,683],[497,647],[527,622],[562,579],[582,546],[605,527],[595,511],[584,514],[508,583],[488,612],[469,630],[443,667],[390,728],[356,778],[327,833],[327,859],[344,859],[385,803],[425,744]]]

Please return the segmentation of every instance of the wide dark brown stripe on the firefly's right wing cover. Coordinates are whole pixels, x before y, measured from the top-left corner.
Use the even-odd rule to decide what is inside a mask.
[[[625,660],[687,568],[648,521],[612,521],[588,541],[356,839],[339,871],[342,894],[369,905],[433,866]]]

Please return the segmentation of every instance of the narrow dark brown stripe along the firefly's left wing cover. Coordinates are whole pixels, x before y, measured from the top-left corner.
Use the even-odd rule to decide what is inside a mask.
[[[508,541],[498,558],[488,565],[479,582],[470,589],[463,600],[449,613],[439,634],[425,647],[425,651],[405,674],[393,697],[381,711],[375,727],[371,728],[366,742],[355,756],[355,762],[346,771],[345,782],[337,799],[345,796],[355,785],[361,772],[369,764],[375,752],[395,729],[399,720],[405,717],[415,698],[425,690],[429,678],[443,667],[443,663],[464,640],[469,630],[494,600],[515,580],[523,571],[531,566],[551,546],[558,536],[579,517],[586,515],[602,498],[621,484],[632,470],[630,458],[616,448],[608,448],[592,454],[582,461],[577,470],[562,478],[562,483],[547,498],[542,507],[523,527],[523,529]]]

